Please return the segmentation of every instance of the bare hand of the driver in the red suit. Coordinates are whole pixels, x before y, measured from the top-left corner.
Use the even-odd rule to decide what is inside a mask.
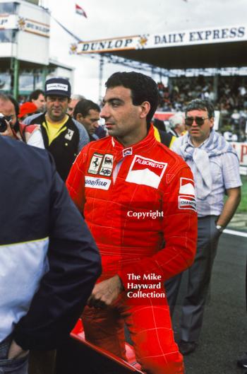
[[[107,308],[111,305],[119,294],[123,291],[121,279],[118,275],[112,278],[95,284],[90,298],[88,298],[88,305],[95,308]]]

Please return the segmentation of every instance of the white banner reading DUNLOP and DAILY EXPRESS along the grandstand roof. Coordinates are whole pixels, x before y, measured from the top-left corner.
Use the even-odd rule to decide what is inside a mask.
[[[71,53],[100,53],[126,49],[148,49],[183,45],[239,42],[241,40],[247,40],[246,29],[245,25],[239,25],[224,28],[205,28],[153,35],[145,34],[91,40],[71,45]]]

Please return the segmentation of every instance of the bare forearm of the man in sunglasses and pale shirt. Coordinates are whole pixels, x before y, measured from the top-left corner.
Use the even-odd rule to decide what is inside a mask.
[[[241,201],[241,187],[227,189],[227,200],[224,203],[222,214],[217,219],[216,224],[226,227],[234,216],[234,213]]]

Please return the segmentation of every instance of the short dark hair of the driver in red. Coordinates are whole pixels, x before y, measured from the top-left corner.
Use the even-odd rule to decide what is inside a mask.
[[[146,121],[147,127],[150,127],[150,122],[159,102],[157,84],[150,76],[136,73],[135,71],[119,71],[108,78],[105,86],[107,88],[117,86],[129,88],[133,105],[140,105],[143,101],[148,101],[150,103],[150,111],[147,114]]]

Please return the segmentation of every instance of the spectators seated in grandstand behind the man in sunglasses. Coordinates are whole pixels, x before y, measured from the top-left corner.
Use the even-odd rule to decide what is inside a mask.
[[[235,141],[246,140],[246,77],[218,76],[216,90],[214,79],[208,76],[169,78],[167,86],[162,82],[157,85],[160,97],[158,110],[183,112],[188,102],[195,98],[210,100],[214,103],[215,110],[220,112],[220,131],[236,135]]]

